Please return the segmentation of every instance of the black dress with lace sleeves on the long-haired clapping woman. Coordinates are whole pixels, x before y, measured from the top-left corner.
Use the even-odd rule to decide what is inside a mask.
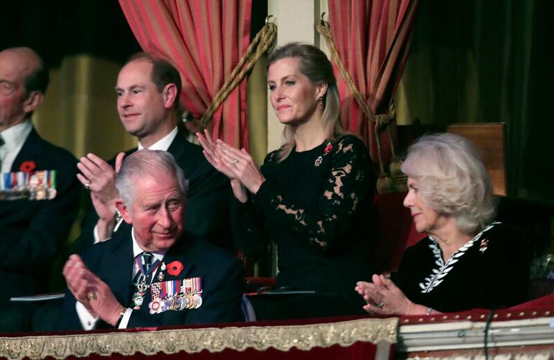
[[[363,314],[354,287],[372,275],[375,179],[364,143],[351,135],[278,162],[267,155],[266,181],[239,206],[235,237],[246,255],[277,244],[278,287],[306,296],[258,296],[258,319]]]

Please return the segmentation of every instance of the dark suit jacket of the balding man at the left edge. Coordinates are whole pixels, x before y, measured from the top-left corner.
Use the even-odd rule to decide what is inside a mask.
[[[0,303],[11,296],[44,293],[52,260],[66,240],[79,208],[77,160],[44,141],[33,128],[12,165],[33,161],[35,170],[57,170],[52,200],[0,201]]]

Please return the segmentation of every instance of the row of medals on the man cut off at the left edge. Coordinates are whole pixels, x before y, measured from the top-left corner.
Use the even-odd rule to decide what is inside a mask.
[[[55,196],[56,170],[0,174],[0,200],[51,200]]]

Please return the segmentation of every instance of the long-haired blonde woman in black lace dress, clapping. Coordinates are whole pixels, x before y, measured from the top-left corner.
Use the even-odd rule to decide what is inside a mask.
[[[374,177],[368,151],[346,134],[332,65],[318,48],[290,43],[269,56],[273,106],[285,142],[261,169],[244,150],[198,134],[208,161],[231,179],[240,249],[277,244],[277,286],[313,294],[251,298],[258,320],[363,313],[352,291],[371,268]]]

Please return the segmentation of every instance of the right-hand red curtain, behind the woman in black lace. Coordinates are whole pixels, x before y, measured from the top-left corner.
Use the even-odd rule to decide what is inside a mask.
[[[331,36],[339,57],[374,114],[386,114],[400,81],[419,0],[329,0]],[[341,119],[360,134],[377,163],[375,123],[365,118],[337,71]],[[392,132],[393,134],[395,132]],[[390,139],[382,132],[384,163],[391,157]]]

